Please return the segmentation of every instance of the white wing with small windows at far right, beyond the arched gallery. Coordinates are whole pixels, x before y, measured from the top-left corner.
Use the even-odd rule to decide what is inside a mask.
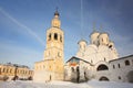
[[[126,61],[129,61],[129,65],[125,64]],[[111,80],[130,81],[127,75],[130,72],[133,72],[133,56],[110,62],[110,72]]]

